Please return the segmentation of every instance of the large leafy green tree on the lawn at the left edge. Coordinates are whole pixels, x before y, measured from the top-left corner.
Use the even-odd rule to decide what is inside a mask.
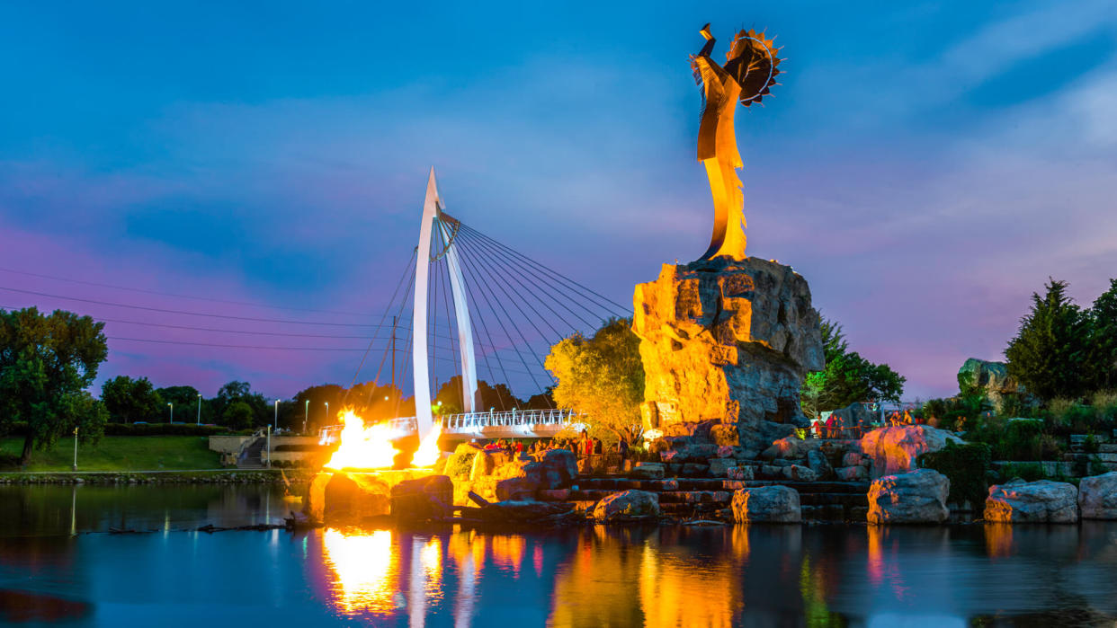
[[[108,355],[104,328],[63,310],[0,310],[0,432],[27,422],[22,464],[75,427],[83,438],[103,432],[105,408],[85,388]]]

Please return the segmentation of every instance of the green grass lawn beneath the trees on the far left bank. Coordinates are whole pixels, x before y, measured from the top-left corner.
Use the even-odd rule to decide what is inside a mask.
[[[4,463],[23,451],[22,437],[0,438]],[[36,450],[26,471],[70,471],[74,439],[63,438],[52,448]],[[206,436],[103,436],[97,444],[77,445],[78,471],[160,471],[220,468],[220,454],[209,451]],[[19,467],[0,468],[19,471]]]

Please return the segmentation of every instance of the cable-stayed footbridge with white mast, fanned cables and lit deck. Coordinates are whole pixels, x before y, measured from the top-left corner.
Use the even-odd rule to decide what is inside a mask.
[[[376,335],[390,329],[391,340],[382,345],[390,348],[373,381],[379,386],[386,379],[390,365],[392,386],[410,379],[414,390],[414,416],[391,424],[400,435],[426,435],[440,422],[449,438],[553,436],[576,423],[576,416],[555,407],[551,390],[557,381],[545,368],[547,352],[563,338],[592,335],[612,318],[631,316],[630,308],[466,225],[443,207],[431,168],[419,243],[376,326]],[[408,315],[409,329],[401,325]],[[399,328],[408,329],[400,365]],[[370,339],[354,385],[376,340]],[[370,387],[366,407],[376,403],[371,398],[375,388]],[[536,393],[524,400],[514,388]],[[443,402],[462,412],[439,417]],[[394,403],[375,414],[408,412],[399,397]],[[337,431],[323,431],[323,441]]]

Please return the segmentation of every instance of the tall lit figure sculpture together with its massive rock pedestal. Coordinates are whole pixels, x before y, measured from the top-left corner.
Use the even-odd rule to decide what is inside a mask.
[[[777,50],[764,33],[742,30],[718,65],[709,25],[701,35],[706,45],[690,66],[703,94],[698,160],[709,177],[714,232],[701,258],[663,264],[656,281],[636,287],[641,414],[650,434],[701,435],[755,455],[808,425],[799,392],[806,373],[824,366],[822,338],[806,280],[745,254],[734,110],[776,85]]]

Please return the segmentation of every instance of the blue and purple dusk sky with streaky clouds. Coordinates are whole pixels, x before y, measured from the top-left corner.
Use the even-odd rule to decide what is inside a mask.
[[[718,54],[755,27],[787,59],[737,114],[750,253],[802,272],[905,397],[997,359],[1049,276],[1086,303],[1117,276],[1107,1],[7,3],[0,268],[379,312],[433,165],[451,213],[630,302],[708,241],[687,62],[707,21]],[[0,291],[32,303],[121,315]],[[355,361],[111,347],[105,376],[206,394],[237,377],[289,396]]]

